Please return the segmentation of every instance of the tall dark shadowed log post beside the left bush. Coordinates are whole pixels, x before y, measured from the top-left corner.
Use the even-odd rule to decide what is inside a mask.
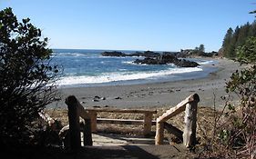
[[[79,115],[77,113],[77,98],[74,95],[70,95],[66,98],[65,103],[67,104],[68,109],[70,149],[77,150],[81,147]]]

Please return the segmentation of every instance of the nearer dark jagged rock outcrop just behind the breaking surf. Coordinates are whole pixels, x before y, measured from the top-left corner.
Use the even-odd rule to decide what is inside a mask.
[[[159,55],[157,58],[145,58],[142,60],[135,60],[135,64],[146,64],[146,65],[167,65],[174,64],[179,67],[195,67],[199,64],[193,61],[178,59],[175,55]]]

